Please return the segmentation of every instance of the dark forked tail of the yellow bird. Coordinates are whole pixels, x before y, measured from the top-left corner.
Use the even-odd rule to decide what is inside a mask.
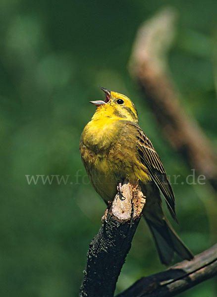
[[[145,220],[154,237],[160,259],[163,264],[169,265],[173,260],[174,251],[183,259],[191,260],[194,256],[191,251],[185,246],[174,229],[164,216],[159,220],[159,217],[147,218],[144,214]]]

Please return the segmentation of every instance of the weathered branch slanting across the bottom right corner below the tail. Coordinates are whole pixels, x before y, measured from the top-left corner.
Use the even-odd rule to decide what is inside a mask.
[[[217,245],[167,270],[141,278],[116,297],[171,297],[217,275]]]

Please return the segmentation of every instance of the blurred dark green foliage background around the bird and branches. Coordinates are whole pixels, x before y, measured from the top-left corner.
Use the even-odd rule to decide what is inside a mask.
[[[168,174],[180,174],[180,181],[191,174],[127,69],[139,25],[164,4],[179,13],[168,63],[181,104],[215,145],[217,1],[0,1],[1,296],[78,295],[88,246],[105,210],[78,149],[95,110],[89,100],[103,99],[98,86],[134,101],[140,126]],[[41,179],[28,185],[25,175],[70,176],[66,185],[55,178],[51,185]],[[211,247],[216,231],[212,188],[179,183],[173,189],[176,231],[195,254]],[[163,269],[141,221],[116,292]],[[214,295],[214,280],[180,294]]]

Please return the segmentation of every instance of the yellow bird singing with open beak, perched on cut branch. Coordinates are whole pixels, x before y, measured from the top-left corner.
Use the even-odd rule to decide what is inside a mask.
[[[163,212],[160,191],[176,220],[174,194],[158,153],[138,125],[133,102],[124,95],[101,89],[106,98],[90,101],[97,109],[80,140],[81,157],[94,189],[108,204],[125,179],[131,184],[139,182],[146,196],[143,216],[162,263],[169,265],[174,251],[183,259],[191,260],[193,254]]]

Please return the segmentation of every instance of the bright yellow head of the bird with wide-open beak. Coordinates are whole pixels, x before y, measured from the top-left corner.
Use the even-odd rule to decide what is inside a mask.
[[[133,102],[124,95],[100,87],[106,94],[105,100],[90,101],[97,106],[93,119],[110,117],[138,123],[138,113]]]

